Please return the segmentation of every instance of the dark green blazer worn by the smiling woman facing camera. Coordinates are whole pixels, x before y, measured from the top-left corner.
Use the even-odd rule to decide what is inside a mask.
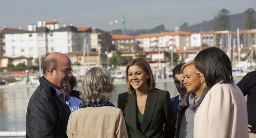
[[[128,137],[132,138],[173,138],[175,136],[175,118],[170,93],[160,89],[148,92],[143,120],[137,128],[136,93],[118,95],[118,108],[122,109]]]

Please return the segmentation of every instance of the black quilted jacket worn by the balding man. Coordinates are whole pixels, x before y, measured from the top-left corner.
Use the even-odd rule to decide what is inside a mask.
[[[26,114],[27,138],[67,138],[71,113],[68,106],[55,95],[55,87],[44,76],[28,102]]]

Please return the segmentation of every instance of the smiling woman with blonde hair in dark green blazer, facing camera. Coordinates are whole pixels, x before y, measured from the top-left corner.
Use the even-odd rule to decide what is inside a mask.
[[[148,61],[136,58],[126,66],[128,91],[118,95],[129,138],[173,138],[175,117],[168,91],[155,88]]]

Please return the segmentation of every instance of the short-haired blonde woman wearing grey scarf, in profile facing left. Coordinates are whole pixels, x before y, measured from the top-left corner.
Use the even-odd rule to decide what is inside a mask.
[[[187,93],[178,104],[176,138],[193,138],[195,112],[202,103],[208,89],[206,83],[203,83],[196,73],[197,69],[194,61],[185,63],[181,69]]]

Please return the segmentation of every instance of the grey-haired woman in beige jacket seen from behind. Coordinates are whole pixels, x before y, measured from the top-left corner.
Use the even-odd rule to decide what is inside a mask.
[[[86,71],[80,87],[82,103],[68,120],[69,138],[128,138],[122,110],[109,102],[113,90],[106,69],[93,67]]]

